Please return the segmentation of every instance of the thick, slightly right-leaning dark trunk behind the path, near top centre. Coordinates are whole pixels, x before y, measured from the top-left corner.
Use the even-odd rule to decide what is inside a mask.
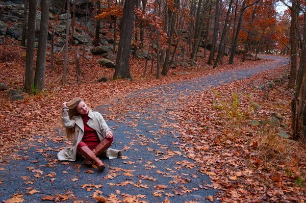
[[[113,80],[123,78],[132,79],[130,73],[130,50],[134,23],[134,6],[134,0],[124,1],[118,56]]]

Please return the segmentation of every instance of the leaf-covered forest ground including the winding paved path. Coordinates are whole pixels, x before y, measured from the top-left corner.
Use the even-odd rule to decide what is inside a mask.
[[[47,70],[43,93],[13,102],[2,92],[1,200],[303,202],[305,147],[276,135],[291,132],[294,91],[283,77],[288,59],[262,57],[245,63],[237,58],[217,69],[198,60],[196,67],[171,69],[160,80],[149,73],[142,79],[144,60],[133,59],[135,81],[106,83],[96,81],[114,70],[94,57],[85,62],[80,85],[70,64],[65,86],[59,60],[56,71]],[[0,82],[21,88],[23,64],[22,57],[1,62]],[[268,81],[275,86],[268,88]],[[124,155],[103,160],[108,167],[100,173],[56,157],[71,144],[59,129],[60,106],[77,96],[103,114],[115,132],[112,147]],[[277,120],[268,122],[271,117]],[[251,125],[255,119],[265,121]]]

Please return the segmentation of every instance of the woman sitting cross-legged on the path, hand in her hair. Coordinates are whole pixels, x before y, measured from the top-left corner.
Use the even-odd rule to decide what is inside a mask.
[[[62,104],[62,124],[67,138],[73,135],[73,146],[58,153],[60,161],[75,161],[84,157],[85,164],[96,165],[103,171],[105,164],[99,158],[114,159],[120,151],[109,149],[113,142],[113,131],[99,112],[91,111],[81,98],[74,98]],[[105,136],[104,136],[105,135]]]

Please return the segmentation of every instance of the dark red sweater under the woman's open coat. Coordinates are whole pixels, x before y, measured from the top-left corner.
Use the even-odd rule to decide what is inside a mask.
[[[81,117],[84,123],[84,136],[82,141],[85,142],[85,144],[87,144],[90,149],[93,149],[100,143],[100,140],[98,138],[97,132],[90,128],[90,126],[87,124],[87,121],[89,120],[88,113],[81,114]]]

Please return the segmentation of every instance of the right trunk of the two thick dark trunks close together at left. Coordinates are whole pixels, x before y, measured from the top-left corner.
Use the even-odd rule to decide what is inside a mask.
[[[45,87],[45,72],[46,72],[46,49],[48,39],[48,24],[49,24],[49,0],[41,2],[41,20],[39,30],[39,41],[37,49],[36,69],[34,86],[38,92]]]

